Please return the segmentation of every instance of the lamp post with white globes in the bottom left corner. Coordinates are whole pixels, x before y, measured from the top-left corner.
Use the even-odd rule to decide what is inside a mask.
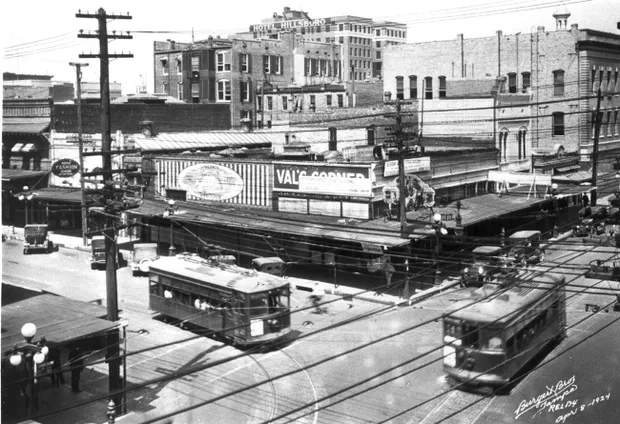
[[[45,337],[41,337],[38,341],[33,338],[37,333],[37,326],[29,322],[24,324],[21,329],[24,342],[16,344],[9,353],[9,362],[11,365],[18,367],[22,363],[25,366],[28,378],[27,405],[28,415],[34,415],[37,411],[37,366],[45,362],[45,358],[49,353],[49,348]]]

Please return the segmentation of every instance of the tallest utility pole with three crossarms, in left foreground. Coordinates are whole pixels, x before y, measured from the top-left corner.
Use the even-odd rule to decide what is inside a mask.
[[[109,64],[111,58],[131,58],[133,54],[121,53],[121,54],[109,54],[108,42],[110,39],[125,39],[129,40],[133,37],[127,34],[116,34],[116,31],[112,32],[112,35],[108,34],[107,21],[114,19],[132,19],[129,15],[108,15],[103,8],[100,8],[97,13],[78,13],[75,15],[77,18],[94,18],[98,22],[98,31],[96,33],[84,34],[80,30],[78,38],[97,38],[99,40],[99,54],[80,54],[80,58],[99,58],[100,64],[100,77],[99,77],[99,89],[101,93],[101,152],[102,156],[102,174],[104,186],[109,186],[112,183],[112,143],[110,136],[110,76],[109,76]],[[104,199],[106,204],[108,199],[110,202],[114,201],[114,194],[110,194],[109,191],[104,192]],[[117,262],[117,246],[116,246],[116,222],[115,218],[106,218],[105,230],[103,235],[105,236],[105,251],[106,251],[106,300],[107,300],[107,319],[109,321],[118,321],[118,289],[116,281],[116,262]],[[118,329],[116,331],[110,331],[108,333],[108,349],[106,352],[106,360],[108,362],[109,370],[109,385],[108,389],[111,395],[112,401],[116,405],[117,414],[121,413],[122,395],[116,392],[121,389],[120,379],[120,337]]]

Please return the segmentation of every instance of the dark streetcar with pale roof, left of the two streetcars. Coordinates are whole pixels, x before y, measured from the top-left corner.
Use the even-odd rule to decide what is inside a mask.
[[[287,280],[195,254],[150,263],[149,308],[239,347],[277,344],[291,331]]]

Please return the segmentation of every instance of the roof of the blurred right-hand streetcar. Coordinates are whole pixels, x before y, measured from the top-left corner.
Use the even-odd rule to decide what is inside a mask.
[[[471,298],[455,302],[446,315],[464,321],[506,323],[545,297],[551,288],[563,284],[563,277],[525,270],[514,281],[507,289],[485,284]]]

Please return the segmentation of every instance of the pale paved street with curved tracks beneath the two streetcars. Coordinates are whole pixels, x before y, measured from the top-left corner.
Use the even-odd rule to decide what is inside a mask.
[[[614,254],[615,248],[583,245],[569,239],[547,250],[544,266],[565,273],[569,281],[573,280],[570,284],[574,287],[597,284],[615,287],[613,283],[578,276],[592,259],[606,259]],[[70,249],[24,256],[21,244],[8,240],[3,243],[3,281],[83,301],[105,299],[105,273],[90,270],[87,259],[86,252]],[[554,379],[570,379],[572,375],[564,374],[574,367],[562,360],[562,356],[566,357],[562,352],[619,316],[618,313],[592,315],[592,311],[585,311],[586,303],[601,303],[603,298],[612,301],[609,296],[568,293],[569,327],[584,321],[571,328],[568,337],[549,355],[561,358],[552,364],[554,371],[550,374],[549,368],[544,367],[525,378],[509,396],[484,398],[451,391],[442,371],[439,318],[454,300],[469,296],[470,289],[448,291],[401,308],[324,295],[323,301],[334,302],[320,310],[302,310],[311,304],[310,293],[294,290],[292,322],[296,340],[277,351],[244,354],[216,340],[154,319],[146,307],[147,279],[131,276],[127,268],[119,270],[118,279],[121,315],[130,323],[127,352],[140,352],[127,360],[128,387],[133,390],[127,395],[130,413],[120,422],[141,422],[165,414],[174,414],[174,423],[274,420],[430,424],[486,423],[489,419],[551,422],[546,419],[559,415],[537,414],[539,421],[527,421],[526,414],[517,416],[513,411],[522,399],[544,390],[545,381],[553,384],[555,380],[550,381],[549,375]],[[352,321],[321,331],[347,320]],[[603,343],[606,334],[593,339],[599,340],[597,346]],[[583,358],[591,354],[592,348],[585,347],[593,346],[590,343],[573,351],[578,357],[569,355],[568,358],[583,363]],[[234,359],[237,356],[240,357]],[[604,361],[589,363],[588,367],[580,368],[581,373],[575,373],[575,378],[584,384],[587,375],[606,375],[609,372],[606,366],[611,367]],[[163,380],[166,376],[176,378]],[[541,376],[547,377],[541,381]],[[156,383],[138,387],[154,379]],[[601,388],[602,395],[618,393],[620,388],[609,386],[609,379],[605,381],[607,386]],[[99,409],[103,414],[107,365],[88,367],[84,390],[88,395],[102,396]],[[53,399],[53,390],[49,389],[42,397]],[[79,400],[86,399],[84,396]],[[587,419],[590,412],[599,409],[587,408],[580,417]],[[69,422],[68,417],[76,423],[105,421],[103,416],[95,419],[69,410],[44,416],[40,422]]]

